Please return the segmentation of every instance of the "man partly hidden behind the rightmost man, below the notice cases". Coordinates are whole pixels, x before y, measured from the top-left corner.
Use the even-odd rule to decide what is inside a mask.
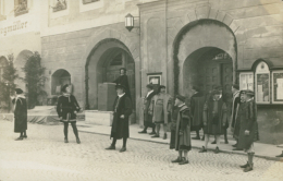
[[[236,144],[232,145],[237,147],[238,132],[239,132],[239,121],[237,121],[238,107],[241,104],[239,97],[239,86],[237,84],[232,85],[233,101],[232,101],[232,114],[231,114],[231,130],[233,132],[233,137],[236,140]]]

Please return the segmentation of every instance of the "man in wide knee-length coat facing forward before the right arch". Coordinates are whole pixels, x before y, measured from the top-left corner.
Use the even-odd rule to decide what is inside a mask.
[[[204,106],[204,132],[205,132],[205,146],[199,153],[207,152],[209,136],[214,135],[217,147],[214,153],[220,153],[219,143],[220,135],[224,134],[225,123],[227,121],[226,104],[220,97],[219,90],[213,90],[211,97]]]

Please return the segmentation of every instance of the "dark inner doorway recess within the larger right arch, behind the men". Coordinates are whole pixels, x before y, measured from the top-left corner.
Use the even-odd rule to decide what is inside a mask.
[[[204,47],[190,53],[183,65],[184,94],[193,95],[197,85],[208,94],[214,86],[222,86],[226,99],[232,96],[233,61],[229,53],[214,47]]]

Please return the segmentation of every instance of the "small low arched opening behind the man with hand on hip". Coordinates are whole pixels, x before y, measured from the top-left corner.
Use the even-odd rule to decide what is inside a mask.
[[[57,70],[51,76],[51,94],[59,95],[65,84],[71,84],[71,74],[64,69]]]

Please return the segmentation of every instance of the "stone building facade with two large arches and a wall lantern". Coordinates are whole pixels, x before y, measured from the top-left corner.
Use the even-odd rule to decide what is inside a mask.
[[[49,95],[72,83],[79,104],[97,109],[98,84],[126,67],[142,124],[150,79],[187,97],[193,85],[221,85],[229,97],[237,83],[255,90],[262,131],[283,130],[282,0],[48,0],[40,22]]]

